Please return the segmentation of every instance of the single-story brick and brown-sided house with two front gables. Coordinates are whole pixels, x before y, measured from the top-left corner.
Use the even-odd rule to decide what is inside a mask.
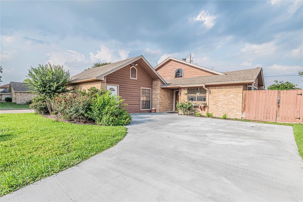
[[[177,101],[190,100],[207,103],[204,110],[195,107],[201,114],[241,118],[242,91],[264,89],[264,79],[262,68],[222,73],[171,57],[153,68],[140,55],[88,69],[72,76],[69,85],[104,87],[122,96],[130,113],[176,111]]]

